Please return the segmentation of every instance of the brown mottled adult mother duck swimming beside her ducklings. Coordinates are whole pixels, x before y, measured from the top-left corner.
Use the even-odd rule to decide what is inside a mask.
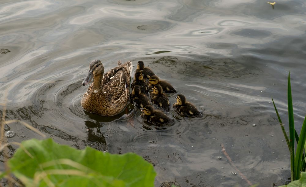
[[[131,72],[132,61],[122,64],[119,60],[118,66],[105,74],[100,60],[91,61],[88,75],[82,82],[85,86],[94,79],[81,101],[84,110],[103,116],[113,116],[124,110],[129,101]]]

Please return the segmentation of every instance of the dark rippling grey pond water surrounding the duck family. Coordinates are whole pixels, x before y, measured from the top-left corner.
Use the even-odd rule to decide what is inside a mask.
[[[222,143],[252,184],[281,185],[290,177],[289,151],[271,96],[288,128],[291,71],[300,130],[306,114],[305,8],[301,0],[280,1],[274,9],[258,0],[2,0],[0,103],[7,120],[27,122],[61,144],[143,156],[155,167],[156,186],[248,186]],[[143,60],[205,115],[181,118],[171,109],[175,124],[157,128],[132,105],[120,119],[84,112],[80,100],[88,86],[81,82],[94,59],[106,70],[117,60]],[[169,99],[175,102],[175,96]],[[16,132],[9,142],[42,139],[20,123],[9,129]],[[5,160],[3,153],[0,158]]]

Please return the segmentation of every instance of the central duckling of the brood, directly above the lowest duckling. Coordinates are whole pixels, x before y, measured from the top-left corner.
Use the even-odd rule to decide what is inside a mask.
[[[150,93],[151,102],[166,111],[170,109],[170,102],[166,94],[162,92],[162,86],[155,85],[153,91]]]

